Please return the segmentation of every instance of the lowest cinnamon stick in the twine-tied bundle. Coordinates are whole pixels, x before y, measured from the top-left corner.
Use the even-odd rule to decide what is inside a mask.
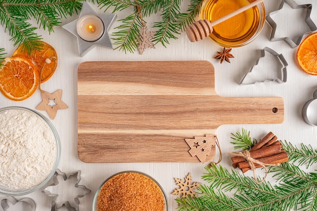
[[[282,163],[282,162],[287,162],[288,156],[287,156],[287,153],[285,152],[285,150],[282,149],[282,152],[279,154],[275,154],[275,155],[271,155],[271,156],[267,156],[267,157],[261,157],[261,158],[258,158],[257,160],[260,162],[263,162],[263,163],[267,163],[267,164],[278,164],[278,163]],[[256,168],[261,167],[261,165],[259,165],[257,163],[255,163],[254,165]],[[237,164],[237,166],[240,169],[250,167],[249,163],[246,161],[239,162]]]

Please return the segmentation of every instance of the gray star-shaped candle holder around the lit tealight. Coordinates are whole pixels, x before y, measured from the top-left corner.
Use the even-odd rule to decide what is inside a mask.
[[[103,32],[102,32],[101,36],[96,37],[96,40],[94,40],[93,38],[92,38],[92,40],[88,40],[87,37],[85,37],[85,34],[81,33],[81,31],[79,31],[81,33],[81,35],[78,34],[77,30],[79,28],[78,28],[77,23],[78,23],[78,21],[83,20],[83,17],[87,16],[87,15],[98,17],[102,21],[102,22],[100,22],[100,21],[99,22],[101,24],[103,24]],[[108,34],[108,30],[111,27],[111,25],[113,24],[113,22],[115,21],[115,19],[116,19],[116,14],[114,14],[114,13],[96,14],[95,11],[89,6],[89,4],[84,2],[79,18],[70,22],[70,23],[63,25],[62,27],[77,37],[78,52],[79,52],[80,56],[82,57],[89,50],[94,48],[95,46],[101,46],[104,48],[113,49],[112,44],[111,44],[111,40],[110,40],[110,37]],[[94,30],[94,29],[92,29],[92,30]]]

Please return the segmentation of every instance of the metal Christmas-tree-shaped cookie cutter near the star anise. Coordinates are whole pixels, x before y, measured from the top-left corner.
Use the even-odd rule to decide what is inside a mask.
[[[254,68],[256,66],[259,65],[259,62],[265,57],[265,54],[269,53],[271,54],[275,59],[276,61],[278,61],[278,63],[282,66],[281,69],[279,70],[280,71],[280,76],[281,77],[275,77],[275,78],[266,78],[264,80],[255,80],[255,81],[252,81],[252,82],[246,82],[245,80],[247,79],[248,75],[254,70]],[[261,51],[261,57],[256,61],[255,65],[253,65],[249,72],[247,74],[245,74],[242,79],[240,80],[239,82],[239,85],[251,85],[251,84],[255,84],[255,83],[258,83],[258,82],[279,82],[279,83],[284,83],[286,82],[287,80],[287,70],[286,70],[286,67],[288,66],[288,63],[287,61],[285,60],[284,56],[282,54],[278,54],[276,53],[274,50],[268,48],[268,47],[265,47],[262,51]]]

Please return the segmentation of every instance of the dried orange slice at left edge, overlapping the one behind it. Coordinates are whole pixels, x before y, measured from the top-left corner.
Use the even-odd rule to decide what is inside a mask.
[[[0,91],[15,101],[30,97],[38,86],[38,72],[31,60],[8,57],[0,66]]]

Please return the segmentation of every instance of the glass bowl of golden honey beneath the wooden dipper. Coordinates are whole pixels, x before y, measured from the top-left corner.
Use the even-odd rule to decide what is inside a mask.
[[[234,12],[255,0],[205,0],[201,9],[201,19],[213,22]],[[250,8],[222,23],[213,26],[209,37],[218,45],[227,48],[245,46],[261,32],[265,23],[263,3]]]

